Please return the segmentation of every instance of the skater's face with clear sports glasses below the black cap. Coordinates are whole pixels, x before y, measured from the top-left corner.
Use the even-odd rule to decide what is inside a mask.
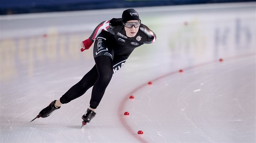
[[[139,21],[137,20],[130,20],[130,21],[127,21],[124,25],[124,30],[126,32],[126,36],[132,38],[134,37],[137,32],[139,31]],[[130,27],[132,26],[132,27]]]

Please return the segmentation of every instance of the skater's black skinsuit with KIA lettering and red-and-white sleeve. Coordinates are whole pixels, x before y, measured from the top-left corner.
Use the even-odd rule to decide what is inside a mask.
[[[61,97],[61,103],[68,103],[82,96],[93,86],[90,107],[96,109],[113,73],[124,65],[132,51],[138,46],[156,40],[156,35],[154,32],[154,35],[151,35],[150,31],[147,26],[141,24],[136,36],[129,38],[126,36],[121,18],[100,23],[90,36],[90,40],[95,41],[93,47],[95,65]]]

